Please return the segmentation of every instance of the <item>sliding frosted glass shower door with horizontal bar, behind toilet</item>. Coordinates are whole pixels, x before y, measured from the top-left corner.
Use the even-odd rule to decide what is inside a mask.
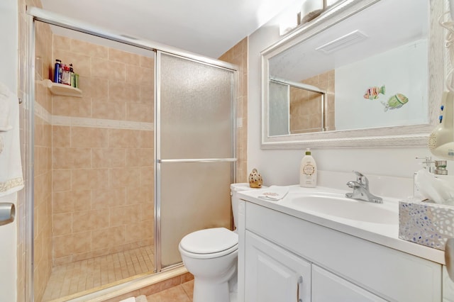
[[[181,262],[179,240],[231,227],[236,71],[157,52],[155,245],[157,270]],[[160,259],[160,261],[159,261]]]

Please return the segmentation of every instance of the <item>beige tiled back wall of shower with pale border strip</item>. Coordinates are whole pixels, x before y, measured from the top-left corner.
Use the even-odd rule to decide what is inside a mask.
[[[54,264],[152,245],[153,58],[54,35],[53,59],[83,91],[52,96]]]

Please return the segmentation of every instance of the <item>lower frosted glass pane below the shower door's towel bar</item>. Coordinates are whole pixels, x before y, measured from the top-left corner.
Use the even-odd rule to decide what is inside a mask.
[[[181,262],[179,240],[195,230],[231,227],[231,164],[161,164],[161,264]]]

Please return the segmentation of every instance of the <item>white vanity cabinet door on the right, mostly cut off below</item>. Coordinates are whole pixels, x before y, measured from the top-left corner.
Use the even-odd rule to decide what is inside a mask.
[[[383,301],[379,296],[312,264],[312,302]]]

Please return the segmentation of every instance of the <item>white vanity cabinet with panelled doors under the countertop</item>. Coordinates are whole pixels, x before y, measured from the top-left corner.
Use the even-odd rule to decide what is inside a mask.
[[[252,202],[240,209],[239,301],[442,301],[441,264]]]

